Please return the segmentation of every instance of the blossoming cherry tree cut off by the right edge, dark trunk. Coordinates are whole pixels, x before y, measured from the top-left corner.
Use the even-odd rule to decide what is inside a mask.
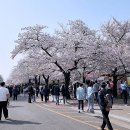
[[[114,82],[114,96],[117,96],[117,80],[130,69],[130,22],[115,18],[102,25],[102,69],[111,72]]]

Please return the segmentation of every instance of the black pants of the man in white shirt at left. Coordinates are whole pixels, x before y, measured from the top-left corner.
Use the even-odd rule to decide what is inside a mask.
[[[4,117],[7,118],[8,117],[7,101],[0,102],[0,120],[2,117],[2,110],[3,110]]]

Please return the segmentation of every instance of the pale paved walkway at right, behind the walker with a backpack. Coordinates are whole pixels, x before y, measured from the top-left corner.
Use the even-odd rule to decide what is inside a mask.
[[[68,103],[77,110],[76,100],[69,100]],[[95,109],[94,110],[95,114],[90,114],[90,115],[102,117],[98,104],[95,103],[94,109]],[[128,106],[125,106],[123,104],[122,99],[114,99],[114,105],[110,111],[109,117],[111,122],[113,122],[114,124],[130,129],[130,99],[128,101]]]

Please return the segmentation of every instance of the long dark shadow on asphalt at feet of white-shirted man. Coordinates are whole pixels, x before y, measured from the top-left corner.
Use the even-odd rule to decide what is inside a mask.
[[[32,121],[23,121],[23,120],[14,120],[14,119],[7,119],[4,121],[0,121],[0,124],[10,124],[10,125],[24,125],[24,124],[35,124],[40,125],[42,123],[32,122]]]

